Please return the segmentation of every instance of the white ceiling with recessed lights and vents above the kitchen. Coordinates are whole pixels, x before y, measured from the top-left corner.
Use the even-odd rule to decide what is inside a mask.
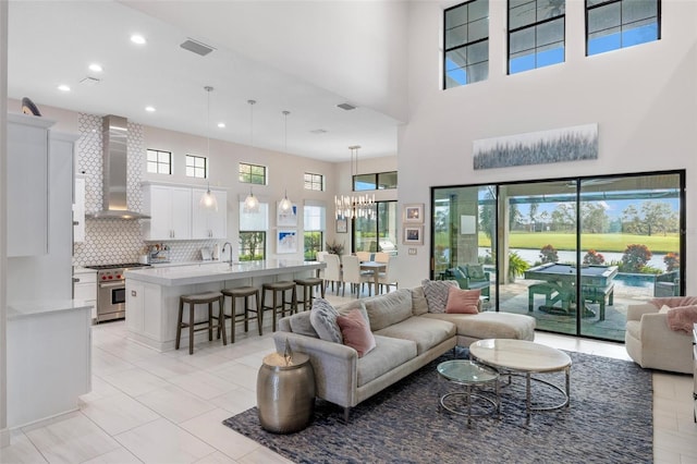
[[[39,110],[117,114],[277,151],[285,150],[288,121],[289,152],[346,161],[348,146],[360,145],[364,158],[391,156],[406,114],[406,8],[399,1],[11,1],[8,95],[29,97]],[[147,42],[131,42],[134,33]],[[187,39],[215,50],[201,57],[180,46]],[[90,63],[103,71],[89,71]],[[61,84],[71,90],[58,90]],[[249,99],[257,100],[253,110]],[[337,107],[345,102],[356,109]]]

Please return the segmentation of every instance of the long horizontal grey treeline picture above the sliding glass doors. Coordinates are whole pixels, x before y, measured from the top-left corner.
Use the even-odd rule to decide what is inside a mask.
[[[474,142],[474,169],[509,168],[598,158],[598,124]]]

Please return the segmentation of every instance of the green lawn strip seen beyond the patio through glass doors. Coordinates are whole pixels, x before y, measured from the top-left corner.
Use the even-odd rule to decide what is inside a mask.
[[[572,233],[513,232],[510,239],[509,246],[511,248],[540,249],[545,245],[552,245],[559,251],[576,249],[576,235]],[[580,246],[584,251],[624,253],[627,245],[633,244],[646,245],[651,253],[677,253],[680,251],[677,234],[647,236],[628,233],[598,233],[580,236]],[[484,233],[479,233],[479,246],[491,246],[491,242]]]

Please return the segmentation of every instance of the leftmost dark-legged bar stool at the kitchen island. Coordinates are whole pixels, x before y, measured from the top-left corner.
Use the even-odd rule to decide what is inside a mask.
[[[218,302],[218,316],[213,317],[213,303],[216,302]],[[188,322],[182,322],[182,316],[184,314],[184,304],[188,304]],[[196,321],[194,318],[194,309],[196,305],[206,305],[206,304],[208,305],[208,319]],[[213,319],[216,319],[215,325],[213,325]],[[223,312],[222,293],[208,292],[208,293],[198,293],[196,295],[180,296],[179,297],[179,317],[176,321],[176,344],[174,345],[174,347],[179,350],[179,344],[182,339],[183,328],[188,328],[188,354],[194,354],[194,332],[198,332],[200,330],[208,330],[208,341],[213,340],[213,329],[218,329],[219,339],[220,339],[220,332],[222,331],[222,344],[227,345],[228,340],[225,338],[224,321],[225,321],[225,314]]]

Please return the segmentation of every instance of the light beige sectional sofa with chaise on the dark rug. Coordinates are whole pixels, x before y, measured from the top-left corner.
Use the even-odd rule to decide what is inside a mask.
[[[317,396],[351,407],[414,373],[455,345],[475,340],[509,338],[534,340],[535,318],[506,313],[445,314],[427,302],[424,288],[402,289],[338,308],[345,313],[365,307],[376,347],[359,357],[342,343],[321,340],[310,322],[310,312],[282,318],[273,333],[277,350],[288,343],[306,353],[315,370]],[[430,308],[430,309],[429,309]]]

